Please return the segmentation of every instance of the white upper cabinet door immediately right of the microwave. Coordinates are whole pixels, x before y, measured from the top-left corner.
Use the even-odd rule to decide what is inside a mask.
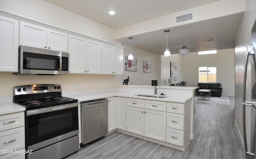
[[[86,73],[86,39],[68,35],[69,73]]]

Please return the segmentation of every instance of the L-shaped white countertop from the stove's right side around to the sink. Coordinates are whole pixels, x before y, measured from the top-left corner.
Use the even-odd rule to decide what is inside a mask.
[[[191,96],[181,96],[181,95],[167,95],[168,97],[166,98],[154,98],[154,97],[136,96],[136,94],[138,94],[138,92],[112,91],[112,92],[104,92],[104,93],[92,93],[92,94],[86,94],[86,95],[71,95],[68,97],[78,99],[79,102],[118,96],[118,97],[128,97],[128,98],[148,99],[148,100],[155,100],[155,101],[168,101],[168,102],[178,102],[178,103],[186,103],[186,101],[192,98]]]

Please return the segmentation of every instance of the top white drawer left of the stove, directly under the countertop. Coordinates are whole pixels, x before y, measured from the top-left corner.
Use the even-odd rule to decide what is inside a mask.
[[[0,116],[0,131],[24,126],[24,112]]]

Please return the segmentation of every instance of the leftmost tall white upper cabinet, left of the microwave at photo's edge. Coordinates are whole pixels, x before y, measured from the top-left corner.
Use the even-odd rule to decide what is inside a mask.
[[[18,72],[19,21],[0,16],[0,72]]]

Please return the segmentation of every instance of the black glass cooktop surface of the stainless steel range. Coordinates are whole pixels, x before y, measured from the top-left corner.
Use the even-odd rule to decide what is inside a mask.
[[[70,103],[76,103],[78,99],[67,98],[67,97],[49,97],[42,99],[32,99],[26,101],[16,101],[19,105],[26,108],[26,110],[40,109],[44,107],[52,107],[56,105],[64,105]]]

